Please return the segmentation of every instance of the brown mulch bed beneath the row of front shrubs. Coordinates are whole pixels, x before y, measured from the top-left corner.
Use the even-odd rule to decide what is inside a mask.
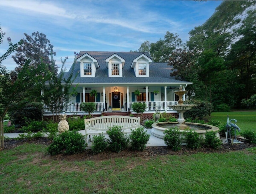
[[[243,139],[238,139],[239,141],[244,141]],[[4,149],[12,149],[19,145],[22,145],[24,143],[32,143],[32,144],[42,144],[42,145],[50,145],[52,141],[50,141],[46,137],[34,139],[31,141],[27,141],[26,139],[22,140],[15,140],[15,139],[7,139],[4,141]],[[212,149],[205,146],[202,146],[201,148],[192,150],[188,148],[187,146],[182,146],[181,150],[179,151],[172,151],[167,146],[156,146],[156,147],[146,147],[145,150],[142,152],[139,151],[133,151],[131,149],[126,149],[120,153],[105,151],[99,154],[93,154],[91,149],[86,149],[84,152],[74,155],[64,155],[64,154],[58,154],[56,156],[50,156],[48,157],[54,159],[54,160],[68,160],[68,161],[82,161],[82,160],[108,160],[111,158],[126,158],[126,157],[140,157],[140,158],[150,158],[150,157],[156,157],[161,155],[183,155],[183,154],[195,154],[198,152],[203,153],[224,153],[224,152],[231,152],[231,151],[237,151],[237,150],[244,150],[245,148],[251,148],[256,147],[255,144],[248,144],[246,142],[242,144],[223,144],[221,148],[218,149]]]

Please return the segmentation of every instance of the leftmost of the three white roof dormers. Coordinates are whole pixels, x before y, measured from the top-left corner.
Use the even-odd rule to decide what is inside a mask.
[[[80,77],[95,77],[96,69],[100,66],[94,57],[85,53],[76,61],[80,61]]]

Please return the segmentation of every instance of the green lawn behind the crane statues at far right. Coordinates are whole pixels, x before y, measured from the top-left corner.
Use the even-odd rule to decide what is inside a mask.
[[[241,132],[245,130],[256,132],[256,111],[233,111],[224,113],[218,112],[212,113],[210,118],[226,124],[228,118],[227,115],[229,115],[229,120],[236,119],[236,125],[240,127]],[[234,121],[232,123],[234,123]]]

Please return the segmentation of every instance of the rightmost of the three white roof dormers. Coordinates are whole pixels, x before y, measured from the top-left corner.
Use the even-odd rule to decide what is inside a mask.
[[[152,63],[150,59],[145,54],[141,54],[136,59],[132,61],[131,68],[134,69],[136,77],[149,77],[149,64]]]

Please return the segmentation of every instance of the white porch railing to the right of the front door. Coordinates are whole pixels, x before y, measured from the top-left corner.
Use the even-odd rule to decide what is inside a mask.
[[[130,110],[132,111],[132,104],[135,103],[135,102],[129,102],[129,106],[130,107]],[[138,102],[138,103],[145,103],[146,102]],[[167,101],[166,102],[167,104],[166,105],[177,105],[178,104],[178,101]],[[165,110],[165,102],[164,101],[150,101],[148,102],[148,105],[147,105],[147,108],[148,108],[148,111],[167,111],[167,110],[172,110],[171,107],[167,107],[167,110]]]

